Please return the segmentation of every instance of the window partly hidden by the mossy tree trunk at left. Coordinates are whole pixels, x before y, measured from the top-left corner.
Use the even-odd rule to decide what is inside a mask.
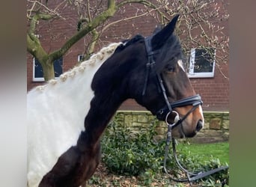
[[[62,73],[63,67],[63,58],[59,58],[58,60],[54,61],[53,64],[55,70],[55,77],[58,77]],[[33,81],[34,82],[43,82],[43,68],[39,61],[36,58],[33,58]]]

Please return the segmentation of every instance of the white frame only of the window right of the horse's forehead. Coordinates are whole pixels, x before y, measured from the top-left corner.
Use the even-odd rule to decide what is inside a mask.
[[[190,58],[189,58],[189,67],[188,67],[188,76],[189,78],[211,78],[214,77],[214,71],[215,71],[215,55],[216,55],[216,49],[214,49],[214,58],[213,58],[213,71],[212,72],[200,72],[195,73],[194,72],[194,66],[195,66],[195,50],[197,48],[191,49],[190,52]]]

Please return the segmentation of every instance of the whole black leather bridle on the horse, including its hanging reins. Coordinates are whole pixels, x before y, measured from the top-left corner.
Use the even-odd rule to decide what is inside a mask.
[[[159,51],[153,52],[153,49],[151,46],[151,38],[152,38],[152,36],[144,38],[145,48],[146,48],[146,52],[147,52],[147,64],[146,64],[147,69],[146,69],[146,76],[145,76],[145,80],[144,80],[142,96],[144,96],[144,94],[147,91],[147,82],[148,82],[148,78],[150,75],[150,70],[153,69],[153,66],[156,64],[156,62],[153,59],[153,55],[155,55],[156,53],[159,52]],[[180,99],[180,100],[177,100],[174,102],[169,102],[166,91],[165,91],[165,86],[162,81],[162,77],[159,73],[156,73],[156,85],[157,85],[159,93],[162,93],[162,95],[165,99],[165,103],[166,103],[166,105],[163,108],[159,109],[159,111],[156,112],[156,117],[160,120],[165,120],[165,123],[168,125],[168,132],[167,132],[166,145],[165,145],[165,159],[164,159],[164,167],[163,167],[164,171],[166,174],[168,174],[168,171],[166,169],[166,161],[168,158],[169,144],[172,141],[172,150],[174,153],[174,160],[175,160],[177,166],[180,168],[180,170],[186,174],[186,179],[175,179],[174,177],[171,177],[170,174],[168,174],[170,179],[177,181],[177,182],[189,182],[189,184],[191,186],[192,181],[199,180],[199,179],[207,177],[211,174],[215,174],[216,172],[228,169],[228,166],[222,166],[222,167],[210,170],[210,171],[205,171],[205,172],[201,171],[198,174],[195,174],[195,173],[187,171],[185,168],[183,168],[182,165],[180,165],[180,162],[177,159],[177,153],[176,153],[176,148],[175,148],[175,139],[171,136],[171,130],[175,126],[178,126],[178,125],[181,125],[181,127],[182,127],[183,120],[185,120],[186,117],[188,117],[189,114],[191,114],[192,111],[195,110],[195,108],[197,108],[199,105],[202,105],[203,101],[201,100],[201,96],[199,94],[196,94],[195,96],[189,96],[184,99]],[[182,106],[186,106],[186,105],[192,105],[192,108],[182,117],[182,119],[180,119],[179,114],[177,113],[177,111],[174,111],[173,108],[182,107]],[[168,123],[168,116],[170,114],[175,114],[174,123]],[[181,129],[183,129],[183,128],[181,128]],[[225,183],[222,183],[222,186],[224,186],[224,184]]]

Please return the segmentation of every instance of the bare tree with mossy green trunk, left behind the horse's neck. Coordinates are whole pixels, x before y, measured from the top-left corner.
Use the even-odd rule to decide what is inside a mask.
[[[100,36],[97,28],[104,25],[104,22],[106,22],[107,19],[114,16],[120,7],[130,3],[139,3],[150,8],[155,8],[150,1],[144,0],[127,0],[120,2],[108,0],[107,3],[106,1],[93,1],[94,6],[91,6],[91,1],[63,0],[58,1],[58,3],[53,3],[50,6],[48,1],[28,0],[27,17],[29,27],[27,33],[27,51],[37,58],[42,65],[44,79],[48,81],[49,79],[54,78],[53,61],[63,56],[71,46],[87,34],[91,34],[92,36],[91,42],[88,45],[88,54],[90,54]],[[64,10],[68,10],[72,7],[77,8],[79,16],[76,33],[67,38],[61,48],[53,52],[46,52],[36,34],[38,23],[52,19],[66,19],[63,16]]]

